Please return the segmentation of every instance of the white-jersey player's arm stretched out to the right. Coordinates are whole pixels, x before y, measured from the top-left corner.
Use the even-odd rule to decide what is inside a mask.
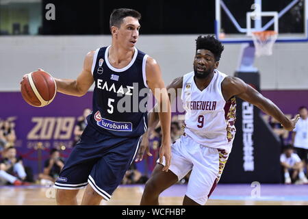
[[[288,131],[294,129],[299,118],[299,115],[292,120],[287,118],[270,99],[267,99],[238,77],[226,77],[222,81],[222,94],[225,100],[230,99],[232,96],[238,96],[240,99],[257,106],[260,110],[278,120]]]

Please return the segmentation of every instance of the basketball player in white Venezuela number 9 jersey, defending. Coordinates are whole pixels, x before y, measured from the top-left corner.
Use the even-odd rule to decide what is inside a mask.
[[[183,205],[205,205],[231,152],[235,136],[235,96],[273,116],[285,129],[294,129],[298,116],[290,120],[277,105],[242,79],[229,77],[217,70],[223,49],[214,36],[199,36],[196,39],[194,71],[175,79],[167,87],[168,90],[175,89],[176,96],[181,96],[185,129],[183,136],[171,146],[170,171],[162,172],[164,161],[157,163],[144,188],[141,205],[158,205],[159,194],[190,170]],[[173,100],[170,98],[171,102]],[[157,113],[151,112],[149,117],[151,131],[157,125]],[[146,141],[143,143],[147,144]]]

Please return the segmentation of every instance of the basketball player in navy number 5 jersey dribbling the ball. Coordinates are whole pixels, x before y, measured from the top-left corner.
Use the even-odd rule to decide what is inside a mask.
[[[95,83],[88,125],[55,182],[59,205],[77,205],[76,196],[81,188],[86,188],[81,205],[99,205],[103,198],[111,198],[147,129],[147,112],[135,108],[144,99],[138,95],[143,88],[150,88],[161,106],[163,141],[159,156],[167,163],[162,170],[168,171],[170,102],[159,65],[135,47],[140,17],[136,10],[114,10],[110,16],[112,44],[90,51],[76,80],[55,79],[57,92],[73,96],[83,96]],[[155,88],[162,92],[155,92]]]

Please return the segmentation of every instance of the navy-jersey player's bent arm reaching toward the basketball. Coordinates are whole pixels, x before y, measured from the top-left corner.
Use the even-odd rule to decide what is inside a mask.
[[[95,51],[90,51],[84,59],[84,67],[77,79],[56,79],[57,92],[72,96],[84,96],[94,82],[92,63]]]

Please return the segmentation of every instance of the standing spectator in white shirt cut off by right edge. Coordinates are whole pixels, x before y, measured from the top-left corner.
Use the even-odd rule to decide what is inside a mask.
[[[308,170],[308,111],[307,107],[300,107],[298,109],[300,118],[296,123],[295,129],[292,133],[292,144],[296,153],[302,160],[306,173]]]

